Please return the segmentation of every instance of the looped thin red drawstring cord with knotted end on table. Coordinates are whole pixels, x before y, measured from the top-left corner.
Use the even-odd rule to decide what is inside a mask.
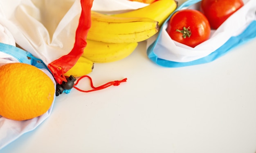
[[[91,83],[91,87],[93,88],[92,90],[88,90],[88,91],[85,91],[85,90],[81,90],[79,88],[76,87],[76,85],[78,84],[78,82],[83,79],[83,78],[89,78],[90,79],[90,83]],[[108,82],[106,84],[103,84],[101,86],[98,86],[98,87],[94,87],[93,86],[93,83],[92,83],[92,78],[88,75],[84,75],[84,76],[81,76],[77,81],[76,83],[74,84],[74,89],[78,90],[78,91],[81,91],[81,92],[85,92],[85,93],[88,93],[88,92],[91,92],[91,91],[97,91],[97,90],[101,90],[101,89],[105,89],[109,86],[118,86],[121,82],[126,82],[127,78],[124,78],[123,80],[120,80],[120,81],[111,81],[111,82]]]

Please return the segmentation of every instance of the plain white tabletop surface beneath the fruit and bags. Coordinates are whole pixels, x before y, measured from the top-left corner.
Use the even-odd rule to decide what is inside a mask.
[[[58,96],[43,124],[0,153],[256,153],[255,67],[256,39],[181,68],[154,64],[140,42],[89,74],[94,86],[127,82]]]

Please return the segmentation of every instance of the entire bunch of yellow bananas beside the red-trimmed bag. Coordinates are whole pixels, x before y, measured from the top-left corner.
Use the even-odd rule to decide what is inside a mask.
[[[76,65],[65,75],[82,76],[92,72],[93,63],[121,60],[130,55],[138,42],[159,31],[164,20],[177,8],[175,0],[157,0],[141,9],[113,15],[91,11],[87,46]]]

